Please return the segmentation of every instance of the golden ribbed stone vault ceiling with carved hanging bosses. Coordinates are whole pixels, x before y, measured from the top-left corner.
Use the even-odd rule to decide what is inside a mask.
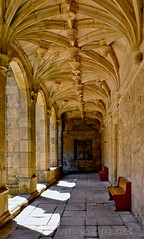
[[[142,0],[0,0],[0,51],[18,57],[60,118],[102,120],[127,49],[142,42]]]

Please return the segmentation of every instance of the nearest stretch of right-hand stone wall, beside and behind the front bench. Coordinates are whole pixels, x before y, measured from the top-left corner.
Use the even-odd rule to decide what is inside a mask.
[[[119,175],[132,182],[132,210],[144,225],[144,69],[119,104]]]

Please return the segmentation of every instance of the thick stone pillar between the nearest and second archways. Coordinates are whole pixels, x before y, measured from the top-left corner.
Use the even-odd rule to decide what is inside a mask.
[[[21,129],[22,135],[20,146],[21,174],[19,176],[20,194],[32,194],[37,189],[36,176],[36,127],[35,108],[37,93],[31,92],[31,102],[28,106],[28,125]],[[26,113],[25,113],[26,114]]]

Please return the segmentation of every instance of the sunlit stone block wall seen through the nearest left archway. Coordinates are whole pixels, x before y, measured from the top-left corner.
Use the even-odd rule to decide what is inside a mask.
[[[6,83],[6,181],[11,194],[19,194],[20,105],[18,85],[9,67]]]

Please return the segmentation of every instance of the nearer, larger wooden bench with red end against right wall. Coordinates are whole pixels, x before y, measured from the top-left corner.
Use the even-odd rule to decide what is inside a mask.
[[[109,186],[110,200],[114,200],[117,211],[131,211],[131,182],[118,178],[117,186]]]

